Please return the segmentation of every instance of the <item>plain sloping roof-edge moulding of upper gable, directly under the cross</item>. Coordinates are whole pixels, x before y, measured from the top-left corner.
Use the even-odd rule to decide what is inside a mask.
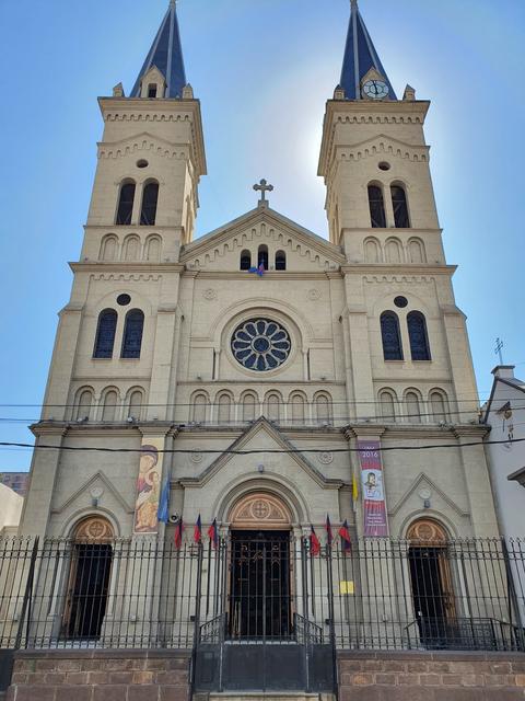
[[[264,221],[270,226],[281,227],[284,231],[295,235],[311,249],[317,250],[327,257],[331,257],[336,263],[343,264],[347,261],[340,246],[330,243],[326,239],[323,239],[323,237],[317,235],[313,231],[310,231],[310,229],[302,227],[270,207],[259,206],[185,245],[180,252],[180,262],[185,263],[196,255],[201,255],[208,249],[217,246],[222,240],[228,240],[237,231],[246,227],[253,227],[259,221]]]

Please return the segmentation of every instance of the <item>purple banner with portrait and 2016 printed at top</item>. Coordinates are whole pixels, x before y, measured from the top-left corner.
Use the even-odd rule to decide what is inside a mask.
[[[358,440],[365,538],[386,538],[388,536],[380,447],[378,440]]]

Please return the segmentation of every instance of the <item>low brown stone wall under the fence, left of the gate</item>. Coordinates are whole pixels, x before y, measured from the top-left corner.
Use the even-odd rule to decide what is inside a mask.
[[[7,701],[188,701],[186,651],[21,651]]]

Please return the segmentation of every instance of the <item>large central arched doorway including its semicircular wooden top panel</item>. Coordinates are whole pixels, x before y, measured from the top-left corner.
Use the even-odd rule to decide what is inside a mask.
[[[275,494],[250,493],[234,504],[231,524],[229,632],[271,641],[292,633],[291,513]]]

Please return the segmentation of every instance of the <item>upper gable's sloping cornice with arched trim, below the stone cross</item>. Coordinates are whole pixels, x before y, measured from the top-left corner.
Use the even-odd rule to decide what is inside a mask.
[[[244,248],[243,233],[260,225],[266,225],[268,230],[275,229],[282,232],[293,242],[292,245],[301,250],[302,254],[310,252],[311,257],[322,257],[324,261],[329,261],[334,267],[346,263],[340,246],[330,243],[269,207],[256,207],[185,245],[180,251],[180,262],[187,264],[197,258],[201,260],[207,253],[213,251],[219,251],[219,255],[221,255],[221,249],[231,248],[235,239],[237,239],[236,248],[242,249]]]

